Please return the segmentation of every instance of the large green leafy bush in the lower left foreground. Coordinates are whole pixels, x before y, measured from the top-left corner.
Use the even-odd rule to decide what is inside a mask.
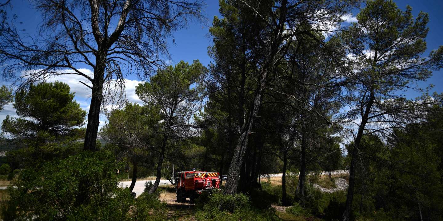
[[[23,169],[12,182],[5,220],[152,220],[165,217],[158,195],[134,198],[117,187],[119,164],[110,152],[81,152],[48,162],[39,170]],[[157,199],[155,199],[157,198]],[[158,205],[157,205],[158,204]]]

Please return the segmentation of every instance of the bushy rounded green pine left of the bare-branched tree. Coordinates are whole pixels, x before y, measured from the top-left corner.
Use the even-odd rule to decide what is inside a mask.
[[[19,118],[6,116],[2,130],[15,141],[41,145],[81,135],[86,111],[62,82],[31,84],[16,92],[14,108]]]

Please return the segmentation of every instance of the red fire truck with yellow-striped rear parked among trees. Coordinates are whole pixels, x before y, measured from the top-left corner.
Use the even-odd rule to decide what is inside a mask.
[[[189,198],[190,202],[194,202],[198,194],[220,189],[218,172],[181,171],[176,180],[177,189],[175,192],[178,202],[185,202],[186,198]]]

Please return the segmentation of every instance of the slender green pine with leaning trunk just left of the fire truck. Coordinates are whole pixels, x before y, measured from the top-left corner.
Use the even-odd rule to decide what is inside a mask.
[[[159,69],[149,82],[136,87],[136,94],[144,103],[160,110],[160,120],[163,122],[156,178],[150,194],[159,186],[170,140],[192,137],[197,132],[192,130],[191,119],[201,108],[204,88],[199,80],[205,72],[206,68],[198,60],[192,65],[180,61],[175,67]]]

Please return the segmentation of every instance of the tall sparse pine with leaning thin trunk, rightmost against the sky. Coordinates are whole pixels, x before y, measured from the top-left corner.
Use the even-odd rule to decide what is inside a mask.
[[[347,117],[353,124],[350,131],[354,137],[343,221],[350,219],[362,137],[389,136],[392,128],[423,120],[429,106],[440,102],[427,95],[408,100],[398,93],[406,88],[420,91],[415,83],[426,80],[431,70],[443,64],[442,46],[428,57],[421,57],[426,50],[429,18],[420,12],[414,20],[411,12],[410,6],[400,11],[392,0],[369,0],[357,15],[358,23],[343,35],[353,65],[348,76],[351,110]]]

